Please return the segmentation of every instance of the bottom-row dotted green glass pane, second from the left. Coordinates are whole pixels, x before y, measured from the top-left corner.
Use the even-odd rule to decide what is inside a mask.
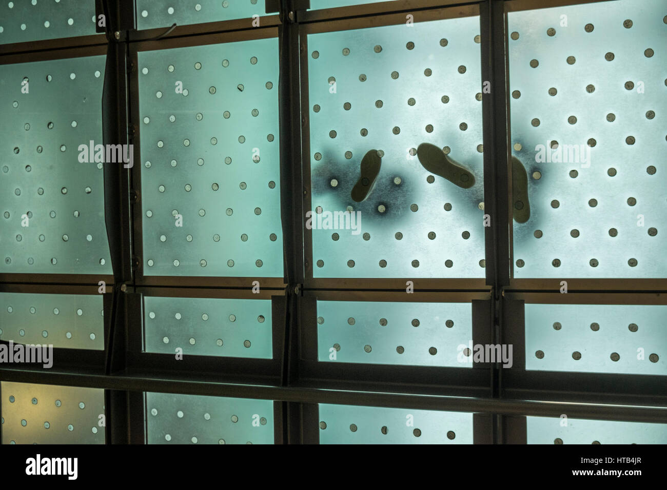
[[[149,444],[273,444],[273,401],[146,393]]]

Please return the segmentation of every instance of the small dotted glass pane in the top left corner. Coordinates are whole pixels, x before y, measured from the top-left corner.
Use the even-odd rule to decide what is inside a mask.
[[[95,27],[93,0],[0,3],[0,44],[95,35]]]

